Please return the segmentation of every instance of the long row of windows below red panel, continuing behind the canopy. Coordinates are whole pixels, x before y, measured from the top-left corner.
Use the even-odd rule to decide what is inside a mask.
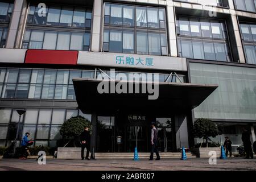
[[[110,72],[106,72],[106,74],[110,76]],[[129,73],[124,74],[129,79]],[[72,79],[81,77],[93,78],[94,71],[1,68],[0,95],[2,92],[2,98],[75,100]],[[97,72],[97,78],[106,78],[106,75]],[[185,81],[185,76],[179,76],[179,78],[181,82]],[[161,82],[180,82],[180,80],[175,76],[170,77],[168,74],[159,75]]]

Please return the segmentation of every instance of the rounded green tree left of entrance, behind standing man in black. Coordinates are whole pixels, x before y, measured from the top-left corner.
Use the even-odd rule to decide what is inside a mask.
[[[84,130],[84,127],[89,127],[91,133],[91,123],[88,119],[78,115],[67,119],[60,128],[60,134],[64,139],[69,139],[69,142],[73,139],[73,145],[76,147],[76,142],[80,137],[81,132]],[[68,143],[69,143],[68,142]],[[67,143],[67,144],[68,144]],[[65,144],[65,146],[67,145]]]

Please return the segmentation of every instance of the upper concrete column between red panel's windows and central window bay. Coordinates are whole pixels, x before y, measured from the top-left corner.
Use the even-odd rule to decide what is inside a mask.
[[[100,52],[102,0],[94,0],[90,51]]]

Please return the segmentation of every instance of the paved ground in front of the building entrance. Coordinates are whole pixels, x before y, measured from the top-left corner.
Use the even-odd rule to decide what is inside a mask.
[[[208,159],[193,158],[188,160],[166,159],[159,161],[148,160],[64,160],[47,159],[46,165],[39,165],[35,159],[0,159],[0,171],[13,170],[256,170],[256,159],[232,158],[217,159],[216,165],[210,165]]]

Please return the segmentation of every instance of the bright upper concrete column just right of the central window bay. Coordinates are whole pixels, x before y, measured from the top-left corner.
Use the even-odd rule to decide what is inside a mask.
[[[175,12],[174,3],[172,1],[167,2],[167,25],[168,25],[168,35],[169,35],[169,48],[170,55],[177,57],[177,40],[176,40],[176,24],[175,24]]]

